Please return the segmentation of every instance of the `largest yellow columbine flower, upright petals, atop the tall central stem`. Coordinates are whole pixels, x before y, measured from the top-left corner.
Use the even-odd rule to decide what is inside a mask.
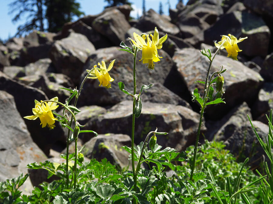
[[[159,34],[157,27],[154,28],[154,33],[153,35],[150,34],[152,40],[150,40],[150,37],[148,34],[142,34],[142,37],[135,32],[133,33],[135,40],[132,40],[130,37],[129,39],[132,40],[133,44],[136,45],[140,50],[142,50],[142,57],[141,60],[143,60],[143,64],[148,63],[148,68],[149,69],[154,69],[154,63],[153,62],[158,62],[160,61],[157,53],[157,49],[162,48],[162,43],[165,42],[167,39],[168,35],[164,35],[159,39]],[[147,40],[147,43],[146,41]],[[139,60],[139,61],[141,61]]]

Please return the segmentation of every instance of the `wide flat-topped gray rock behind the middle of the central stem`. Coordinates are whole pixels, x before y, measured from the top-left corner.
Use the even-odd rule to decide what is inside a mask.
[[[135,121],[135,144],[139,144],[150,131],[158,127],[158,131],[169,133],[158,136],[158,144],[177,148],[178,151],[185,150],[195,141],[199,118],[199,114],[184,106],[143,102],[142,113]],[[98,118],[91,118],[86,128],[99,134],[110,132],[131,135],[131,124],[132,101],[123,101]],[[202,132],[205,131],[203,126]]]

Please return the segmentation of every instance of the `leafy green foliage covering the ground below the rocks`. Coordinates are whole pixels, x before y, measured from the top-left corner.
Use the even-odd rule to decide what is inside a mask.
[[[159,133],[160,134],[160,133]],[[163,133],[161,133],[163,134]],[[159,136],[160,137],[160,136]],[[130,147],[123,147],[129,153]],[[141,154],[143,150],[143,153]],[[106,159],[101,162],[92,159],[79,163],[77,186],[66,188],[65,177],[52,183],[42,183],[32,195],[21,196],[17,189],[28,174],[0,183],[0,202],[12,203],[131,203],[135,198],[138,203],[260,203],[271,195],[265,176],[260,178],[249,170],[247,160],[237,163],[233,155],[224,149],[223,142],[206,141],[200,146],[196,158],[196,171],[193,181],[189,180],[190,161],[194,146],[184,152],[176,152],[170,147],[162,148],[155,144],[148,148],[147,142],[134,147],[134,158],[147,168],[139,168],[137,190],[133,190],[133,174],[130,171],[118,171]],[[62,155],[66,158],[66,155]],[[69,154],[69,160],[74,155]],[[47,169],[58,176],[57,172],[65,171],[65,165],[46,161],[28,165],[32,169]],[[73,167],[70,167],[69,178],[72,178]],[[53,175],[49,171],[49,176]],[[261,192],[259,184],[266,191]],[[73,183],[71,184],[73,186]],[[269,187],[269,186],[268,186]],[[10,192],[10,193],[8,193]],[[270,197],[268,197],[269,199]],[[235,202],[236,199],[236,202]],[[232,201],[232,202],[229,202]],[[269,203],[269,202],[265,202]]]

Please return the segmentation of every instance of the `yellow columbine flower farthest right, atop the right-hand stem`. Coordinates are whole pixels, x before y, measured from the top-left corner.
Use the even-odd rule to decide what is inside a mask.
[[[234,60],[238,60],[237,59],[238,52],[241,52],[242,50],[239,49],[237,43],[242,42],[244,39],[247,39],[247,38],[248,37],[243,37],[237,40],[237,38],[234,35],[231,35],[231,34],[228,34],[228,36],[223,35],[221,41],[219,41],[218,43],[214,42],[214,45],[217,48],[219,48],[220,45],[223,43],[223,41],[225,41],[220,49],[222,50],[226,48],[227,57],[231,57]]]

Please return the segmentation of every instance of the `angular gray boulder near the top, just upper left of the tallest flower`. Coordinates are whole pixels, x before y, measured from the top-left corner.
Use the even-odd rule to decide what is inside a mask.
[[[125,33],[130,27],[125,16],[117,9],[106,11],[92,22],[92,28],[107,37],[115,46],[125,40]]]

